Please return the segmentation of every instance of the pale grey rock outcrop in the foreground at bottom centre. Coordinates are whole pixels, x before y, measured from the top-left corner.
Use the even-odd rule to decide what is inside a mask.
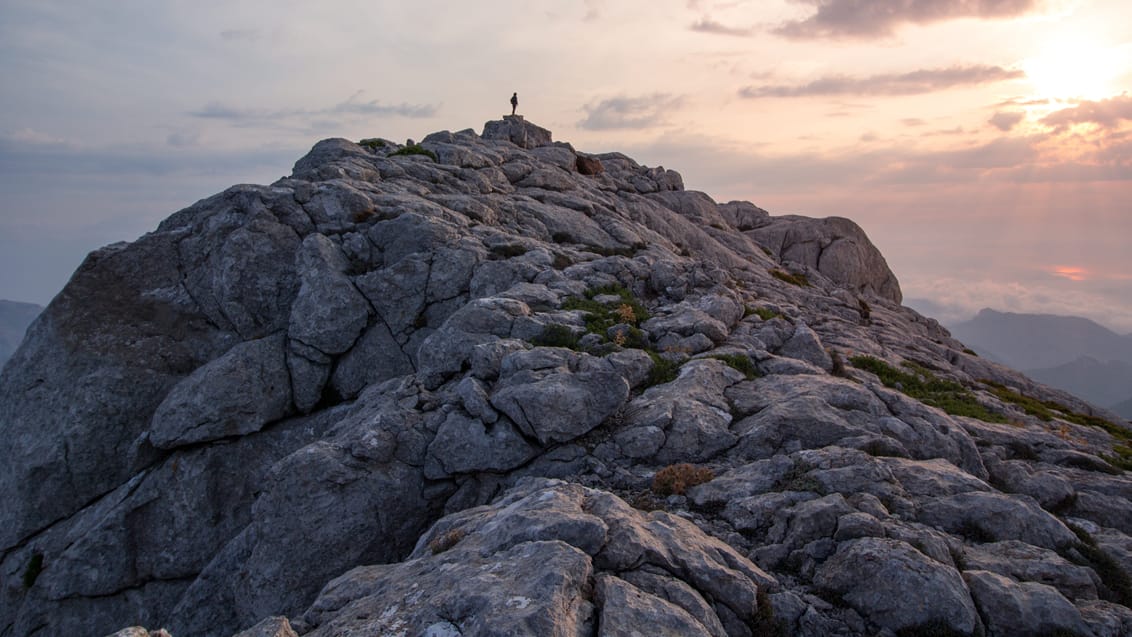
[[[409,561],[335,579],[302,625],[317,636],[625,635],[642,622],[657,635],[719,635],[706,600],[749,622],[760,586],[773,580],[688,523],[645,516],[598,491],[531,481],[491,507],[439,520]],[[671,599],[658,596],[666,591]]]

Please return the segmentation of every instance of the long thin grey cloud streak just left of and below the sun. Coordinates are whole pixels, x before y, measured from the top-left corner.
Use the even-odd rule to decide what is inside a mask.
[[[1018,79],[1023,76],[1024,74],[1020,70],[992,66],[919,69],[903,74],[880,74],[866,77],[834,75],[794,86],[747,86],[739,89],[739,96],[757,100],[762,97],[833,95],[920,95],[947,88]]]

